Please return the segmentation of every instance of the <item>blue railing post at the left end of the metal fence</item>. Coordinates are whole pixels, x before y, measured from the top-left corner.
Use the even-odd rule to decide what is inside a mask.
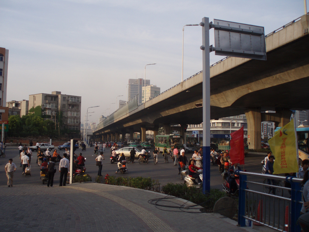
[[[247,176],[239,174],[239,170],[236,170],[235,174],[239,175],[238,225],[246,226],[246,219],[243,216],[246,213]]]

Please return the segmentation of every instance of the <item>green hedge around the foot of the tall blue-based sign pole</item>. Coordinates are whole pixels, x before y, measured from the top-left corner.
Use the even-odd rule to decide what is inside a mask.
[[[203,194],[201,188],[188,187],[185,184],[172,184],[162,186],[162,193],[176,196],[184,200],[191,201],[195,204],[200,204],[209,211],[212,211],[214,204],[226,194],[219,189],[210,189],[210,193]]]

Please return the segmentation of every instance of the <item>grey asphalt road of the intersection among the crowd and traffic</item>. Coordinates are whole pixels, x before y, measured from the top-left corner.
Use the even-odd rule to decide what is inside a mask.
[[[150,150],[152,153],[153,149]],[[58,151],[59,152],[59,151]],[[76,150],[76,154],[80,153],[81,149],[79,148]],[[34,184],[34,185],[40,185],[42,182],[40,181],[40,168],[36,164],[35,159],[31,162],[31,176],[23,176],[22,175],[22,168],[19,167],[19,150],[17,147],[7,147],[6,148],[6,157],[0,158],[0,175],[2,178],[0,178],[0,184],[6,185],[6,174],[4,167],[6,163],[8,162],[9,158],[13,159],[13,162],[17,166],[17,170],[14,174],[14,184]],[[36,154],[36,152],[34,152]],[[63,151],[60,151],[60,154],[62,155]],[[193,153],[187,153],[186,156],[189,160],[190,157],[192,157]],[[95,165],[95,154],[93,153],[93,148],[87,148],[86,151],[83,151],[83,156],[86,158],[85,167],[87,168],[86,173],[91,175],[92,180],[95,180],[95,177],[97,175],[98,167]],[[128,164],[128,172],[125,174],[118,173],[115,174],[115,171],[117,169],[117,164],[111,164],[109,157],[110,152],[106,151],[104,153],[105,160],[103,162],[103,168],[102,168],[102,175],[115,175],[115,176],[124,176],[124,177],[151,177],[153,179],[158,179],[160,185],[165,185],[167,183],[183,183],[183,180],[180,180],[180,176],[178,175],[178,166],[174,166],[171,159],[169,159],[169,163],[165,163],[162,154],[159,154],[158,157],[158,164],[154,165],[153,159],[150,158],[150,161],[148,164],[143,163],[139,164],[138,162],[132,164]],[[153,156],[152,156],[153,157]],[[260,161],[263,159],[264,156],[261,155],[252,155],[249,154],[245,157],[245,165],[244,169],[250,172],[261,172],[261,165]],[[58,163],[56,164],[56,167],[58,166]],[[59,184],[59,173],[57,172],[54,177],[54,185]],[[262,180],[260,180],[262,182]],[[210,185],[212,188],[218,188],[222,189],[222,177],[220,175],[220,172],[218,171],[217,165],[210,165]],[[251,188],[252,189],[252,188]]]

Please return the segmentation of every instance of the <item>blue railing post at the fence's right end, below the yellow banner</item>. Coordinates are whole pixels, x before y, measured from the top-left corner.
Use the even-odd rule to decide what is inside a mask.
[[[291,210],[290,210],[290,231],[300,232],[300,226],[297,225],[302,204],[301,186],[300,183],[293,182],[293,176],[287,176],[286,181],[291,184]]]

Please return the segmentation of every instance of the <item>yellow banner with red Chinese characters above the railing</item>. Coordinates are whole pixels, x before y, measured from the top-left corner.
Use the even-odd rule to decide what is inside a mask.
[[[298,172],[298,148],[294,119],[281,127],[268,143],[275,157],[273,174]]]

